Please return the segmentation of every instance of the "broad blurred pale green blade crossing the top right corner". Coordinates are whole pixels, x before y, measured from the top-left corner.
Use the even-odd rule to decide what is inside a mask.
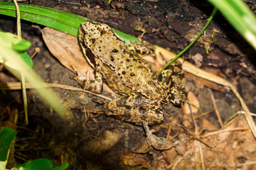
[[[256,18],[241,0],[208,0],[256,50]]]

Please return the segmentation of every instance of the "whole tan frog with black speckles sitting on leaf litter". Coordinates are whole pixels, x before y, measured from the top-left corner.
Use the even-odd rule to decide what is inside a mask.
[[[156,77],[151,64],[142,58],[146,47],[127,45],[105,23],[84,21],[78,30],[78,42],[87,62],[95,70],[95,79],[71,77],[83,89],[101,94],[103,82],[119,94],[105,103],[105,114],[135,125],[162,123],[163,106],[181,106],[186,100],[185,79],[180,62],[169,65]],[[149,50],[152,52],[153,50]]]

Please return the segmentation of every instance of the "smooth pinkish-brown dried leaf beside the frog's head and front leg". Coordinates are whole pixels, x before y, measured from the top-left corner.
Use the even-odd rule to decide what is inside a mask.
[[[72,72],[78,72],[83,79],[94,79],[94,69],[90,67],[85,57],[82,55],[78,45],[78,38],[47,27],[43,28],[42,33],[43,40],[46,42],[50,53],[56,57],[61,64]],[[103,89],[114,94],[106,84],[103,85]]]

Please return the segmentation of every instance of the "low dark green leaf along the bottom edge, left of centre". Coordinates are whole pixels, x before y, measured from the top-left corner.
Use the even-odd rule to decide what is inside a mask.
[[[36,159],[33,161],[28,161],[25,164],[18,165],[11,170],[63,170],[68,168],[68,163],[63,164],[62,166],[56,166],[53,168],[53,162],[49,159]]]

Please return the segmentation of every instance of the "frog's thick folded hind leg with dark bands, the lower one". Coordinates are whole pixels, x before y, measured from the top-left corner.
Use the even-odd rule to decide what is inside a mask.
[[[155,109],[156,100],[145,98],[139,94],[123,96],[105,104],[106,115],[127,122],[142,125],[148,122],[149,125],[162,123],[164,120],[161,108]]]

